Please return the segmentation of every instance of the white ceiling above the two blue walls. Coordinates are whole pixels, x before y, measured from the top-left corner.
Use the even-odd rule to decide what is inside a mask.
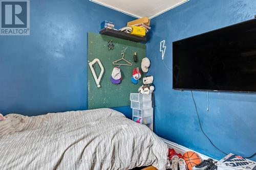
[[[147,16],[153,18],[172,8],[175,8],[189,0],[90,0],[94,3],[103,5],[135,16],[137,18]]]

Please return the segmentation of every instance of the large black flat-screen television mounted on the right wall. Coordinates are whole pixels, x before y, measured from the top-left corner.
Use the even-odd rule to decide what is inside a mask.
[[[256,19],[173,42],[173,89],[256,92]]]

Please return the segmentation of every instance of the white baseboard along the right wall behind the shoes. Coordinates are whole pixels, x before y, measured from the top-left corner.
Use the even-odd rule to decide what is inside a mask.
[[[160,138],[161,138],[161,137],[160,137]],[[169,148],[173,148],[177,153],[181,153],[182,155],[183,155],[185,152],[187,152],[187,151],[193,151],[193,150],[191,150],[191,149],[188,149],[188,148],[186,148],[186,147],[183,147],[183,146],[180,145],[180,144],[171,142],[171,141],[166,140],[166,139],[164,139],[164,138],[161,138],[161,139],[168,145]],[[193,152],[196,152],[196,151],[193,151]],[[198,153],[198,152],[196,152],[196,153],[201,157],[201,159],[204,159],[204,160],[205,160],[205,159],[211,158],[211,157],[208,157],[208,156],[203,155],[203,154],[201,154],[201,153]],[[213,158],[211,158],[211,159],[213,159]],[[213,159],[213,160],[217,161],[216,159]]]

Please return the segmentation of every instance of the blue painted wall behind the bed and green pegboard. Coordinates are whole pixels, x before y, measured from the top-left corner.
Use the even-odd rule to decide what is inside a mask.
[[[0,36],[0,112],[86,110],[87,33],[103,20],[121,28],[133,19],[84,0],[31,0],[30,36]]]

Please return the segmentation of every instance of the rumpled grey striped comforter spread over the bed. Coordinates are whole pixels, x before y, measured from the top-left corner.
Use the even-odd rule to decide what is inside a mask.
[[[167,145],[112,109],[8,114],[0,122],[0,169],[165,169]]]

